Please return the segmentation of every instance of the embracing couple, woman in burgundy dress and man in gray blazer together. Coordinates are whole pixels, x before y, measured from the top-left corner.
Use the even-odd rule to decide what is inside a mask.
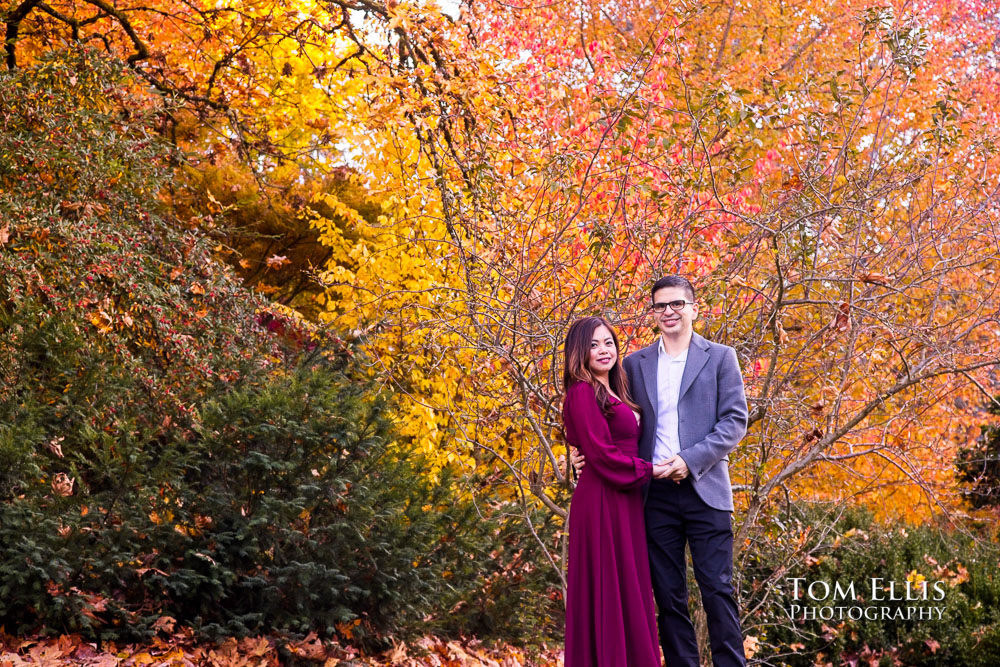
[[[747,427],[736,352],[694,333],[694,287],[653,285],[659,340],[619,363],[601,318],[566,336],[563,422],[580,480],[569,520],[566,667],[698,667],[689,544],[712,660],[744,665],[733,599],[728,457]],[[624,367],[624,372],[622,368]]]

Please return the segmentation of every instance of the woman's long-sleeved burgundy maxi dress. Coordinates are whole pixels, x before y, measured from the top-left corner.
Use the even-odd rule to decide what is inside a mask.
[[[639,458],[636,415],[618,401],[605,418],[578,382],[563,423],[586,457],[570,505],[565,665],[659,667],[641,492],[653,466]]]

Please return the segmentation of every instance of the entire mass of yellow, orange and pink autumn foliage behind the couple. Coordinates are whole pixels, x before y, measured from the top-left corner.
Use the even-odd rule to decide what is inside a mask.
[[[45,7],[6,15],[9,66],[101,40],[205,119],[186,149],[222,141],[264,191],[290,160],[347,168],[378,202],[303,207],[321,319],[364,342],[431,475],[564,516],[566,325],[606,314],[634,349],[678,271],[750,390],[741,544],[781,495],[957,506],[997,363],[987,5]]]

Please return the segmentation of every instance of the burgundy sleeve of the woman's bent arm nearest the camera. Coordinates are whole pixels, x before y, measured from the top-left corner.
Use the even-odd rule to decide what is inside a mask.
[[[597,405],[594,388],[586,382],[572,385],[563,402],[563,422],[569,443],[586,457],[584,471],[593,470],[620,489],[637,487],[653,476],[653,464],[622,453],[611,440],[607,419]]]

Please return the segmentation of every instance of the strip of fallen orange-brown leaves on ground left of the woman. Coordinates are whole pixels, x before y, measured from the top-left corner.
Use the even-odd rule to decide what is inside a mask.
[[[164,617],[160,630],[170,631],[174,619]],[[562,650],[528,652],[505,646],[488,648],[482,642],[424,637],[396,643],[380,655],[368,656],[336,641],[315,634],[304,639],[271,637],[226,639],[218,644],[199,644],[190,630],[169,640],[156,638],[147,645],[111,642],[97,644],[79,635],[18,638],[0,629],[0,667],[277,667],[294,656],[296,664],[321,667],[561,667]]]

